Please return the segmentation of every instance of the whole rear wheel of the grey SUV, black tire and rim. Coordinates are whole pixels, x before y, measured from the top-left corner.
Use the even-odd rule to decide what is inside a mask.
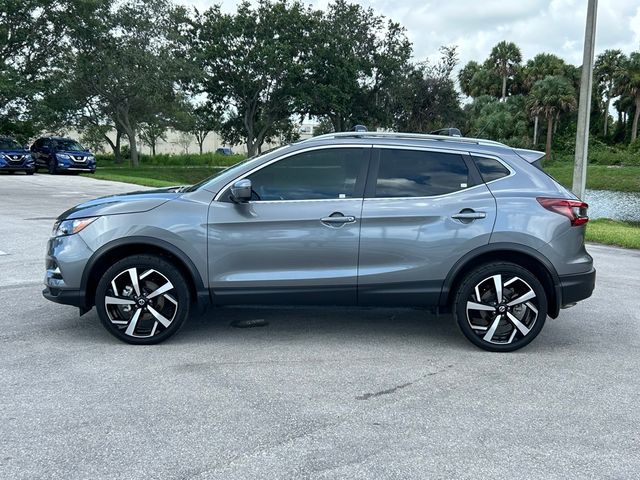
[[[453,315],[473,344],[492,352],[512,352],[538,336],[547,307],[544,287],[533,273],[514,263],[495,262],[465,275],[455,292]]]

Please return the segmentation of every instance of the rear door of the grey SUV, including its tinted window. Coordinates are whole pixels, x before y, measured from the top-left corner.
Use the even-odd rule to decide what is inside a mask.
[[[496,202],[467,152],[374,149],[362,208],[361,304],[436,305],[451,267],[487,244]]]

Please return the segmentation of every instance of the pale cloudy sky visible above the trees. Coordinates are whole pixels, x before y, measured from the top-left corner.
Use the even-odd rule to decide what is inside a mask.
[[[179,0],[205,10],[230,0]],[[326,8],[328,1],[306,1]],[[501,40],[515,42],[526,61],[537,53],[555,53],[574,65],[582,64],[587,0],[362,0],[376,14],[399,22],[413,42],[414,59],[436,60],[441,45],[457,45],[460,66],[483,61]],[[617,48],[640,50],[640,0],[599,0],[596,55]]]

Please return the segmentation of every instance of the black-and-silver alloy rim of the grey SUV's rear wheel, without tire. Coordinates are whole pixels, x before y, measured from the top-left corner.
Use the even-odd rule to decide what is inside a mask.
[[[509,345],[527,337],[538,320],[533,288],[517,275],[496,274],[476,284],[466,303],[466,317],[483,341]]]

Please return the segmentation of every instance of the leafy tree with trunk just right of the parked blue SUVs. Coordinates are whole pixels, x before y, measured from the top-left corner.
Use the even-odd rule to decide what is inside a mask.
[[[183,14],[167,0],[127,0],[85,11],[73,27],[69,89],[113,119],[129,141],[134,166],[141,124],[174,104],[180,64],[172,61],[172,32]]]

